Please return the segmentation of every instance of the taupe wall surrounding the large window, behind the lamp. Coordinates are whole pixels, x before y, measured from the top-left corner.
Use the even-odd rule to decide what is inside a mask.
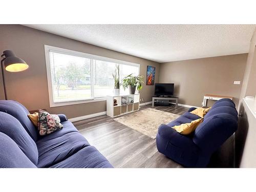
[[[20,25],[0,25],[0,51],[10,49],[24,59],[29,69],[19,73],[6,72],[8,99],[24,104],[28,110],[47,109],[50,113],[64,113],[69,118],[106,111],[106,102],[92,102],[50,108],[44,45],[50,45],[99,56],[140,64],[140,74],[146,76],[146,66],[156,67],[156,82],[159,78],[159,63],[86,44],[47,32]],[[0,99],[4,99],[0,76]],[[154,86],[144,85],[140,91],[145,102],[152,100]]]

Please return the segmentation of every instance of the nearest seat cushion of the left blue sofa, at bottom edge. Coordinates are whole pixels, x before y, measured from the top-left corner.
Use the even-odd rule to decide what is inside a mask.
[[[99,153],[94,146],[88,146],[78,151],[76,154],[61,161],[53,166],[52,168],[112,168],[106,158]]]

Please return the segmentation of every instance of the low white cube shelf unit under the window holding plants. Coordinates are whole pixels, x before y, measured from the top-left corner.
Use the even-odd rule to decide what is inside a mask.
[[[126,104],[122,104],[122,98],[126,99]],[[117,105],[114,105],[114,100],[116,100]],[[133,100],[133,102],[131,102],[131,100]],[[139,93],[128,95],[108,95],[106,96],[106,115],[110,117],[118,117],[120,115],[139,111],[139,102]]]

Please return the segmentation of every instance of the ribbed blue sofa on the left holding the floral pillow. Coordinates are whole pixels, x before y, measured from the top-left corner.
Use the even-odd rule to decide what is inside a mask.
[[[16,101],[0,100],[0,167],[113,167],[65,115],[58,115],[62,130],[40,136],[28,113]]]

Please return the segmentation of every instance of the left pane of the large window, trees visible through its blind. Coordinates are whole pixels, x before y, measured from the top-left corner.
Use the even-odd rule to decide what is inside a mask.
[[[91,61],[50,52],[54,102],[92,99]]]

